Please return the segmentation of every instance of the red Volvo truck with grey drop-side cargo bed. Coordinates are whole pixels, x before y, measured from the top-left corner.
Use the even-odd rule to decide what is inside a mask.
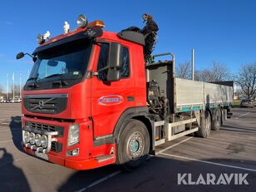
[[[103,31],[88,23],[40,46],[22,90],[22,145],[31,155],[76,170],[110,164],[139,167],[155,146],[219,130],[233,87],[175,78],[170,61],[145,62],[140,32]],[[157,55],[155,57],[161,56]]]

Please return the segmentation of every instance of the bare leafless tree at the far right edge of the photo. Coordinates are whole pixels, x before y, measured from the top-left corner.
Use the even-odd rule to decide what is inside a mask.
[[[256,62],[240,66],[236,81],[247,98],[254,96],[256,92]]]

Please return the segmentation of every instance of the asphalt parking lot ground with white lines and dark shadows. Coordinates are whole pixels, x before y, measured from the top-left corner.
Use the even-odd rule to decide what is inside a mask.
[[[77,171],[25,154],[21,105],[0,103],[0,191],[255,191],[256,108],[233,113],[207,139],[184,136],[160,145],[157,155],[133,173],[116,165]],[[179,174],[185,176],[180,185]],[[233,180],[239,174],[243,185]],[[215,185],[202,180],[196,185],[200,175],[205,182],[214,175]],[[216,185],[221,175],[234,177],[230,184]]]

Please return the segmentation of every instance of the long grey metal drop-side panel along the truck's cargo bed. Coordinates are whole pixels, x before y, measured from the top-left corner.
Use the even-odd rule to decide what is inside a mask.
[[[233,87],[175,78],[175,112],[231,106]]]

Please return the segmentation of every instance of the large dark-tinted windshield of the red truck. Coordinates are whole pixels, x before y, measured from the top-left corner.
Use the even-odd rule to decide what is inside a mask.
[[[57,76],[66,81],[79,79],[85,75],[90,53],[91,42],[86,39],[38,52],[29,79],[38,82],[52,81]]]

